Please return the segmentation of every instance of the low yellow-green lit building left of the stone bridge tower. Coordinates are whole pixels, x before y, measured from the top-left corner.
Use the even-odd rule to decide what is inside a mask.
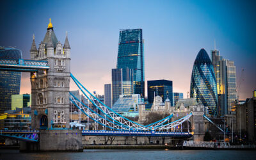
[[[12,95],[12,110],[16,108],[27,108],[31,105],[31,96],[29,94]]]

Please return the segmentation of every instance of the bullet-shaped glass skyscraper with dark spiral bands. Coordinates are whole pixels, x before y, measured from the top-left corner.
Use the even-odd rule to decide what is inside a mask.
[[[190,97],[195,98],[198,104],[204,104],[209,114],[217,114],[217,87],[212,62],[204,49],[201,49],[193,65]]]

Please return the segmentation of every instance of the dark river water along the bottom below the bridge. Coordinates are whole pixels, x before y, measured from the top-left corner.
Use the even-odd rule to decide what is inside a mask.
[[[0,159],[256,159],[255,150],[84,150],[20,153],[0,150]]]

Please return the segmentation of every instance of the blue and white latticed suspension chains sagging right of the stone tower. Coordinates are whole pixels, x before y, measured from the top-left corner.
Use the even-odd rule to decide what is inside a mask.
[[[104,103],[102,103],[97,97],[95,97],[92,93],[90,93],[72,74],[70,74],[70,77],[73,79],[73,81],[76,83],[77,87],[83,95],[90,100],[90,102],[95,106],[96,109],[99,109],[100,113],[98,111],[93,111],[89,106],[86,106],[81,100],[77,99],[76,96],[74,96],[72,93],[70,93],[70,102],[72,102],[78,109],[80,109],[86,116],[91,118],[94,122],[97,122],[100,125],[103,125],[104,127],[108,127],[110,129],[115,130],[129,130],[129,131],[150,131],[150,130],[163,130],[163,129],[170,129],[173,127],[176,127],[177,125],[182,124],[188,118],[192,115],[190,113],[187,116],[184,116],[183,118],[180,118],[179,120],[176,120],[175,122],[168,122],[173,116],[166,116],[162,120],[159,120],[157,122],[154,122],[152,124],[148,125],[141,125],[138,124],[132,120],[129,120],[128,118],[125,118],[124,116],[116,113],[113,111],[113,109],[106,106]]]

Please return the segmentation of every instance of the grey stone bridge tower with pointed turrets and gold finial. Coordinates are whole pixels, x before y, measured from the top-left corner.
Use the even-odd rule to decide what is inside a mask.
[[[67,34],[67,33],[66,33]],[[48,61],[49,70],[31,72],[31,128],[69,128],[70,45],[58,41],[51,19],[44,40],[36,49],[35,36],[31,60]]]

